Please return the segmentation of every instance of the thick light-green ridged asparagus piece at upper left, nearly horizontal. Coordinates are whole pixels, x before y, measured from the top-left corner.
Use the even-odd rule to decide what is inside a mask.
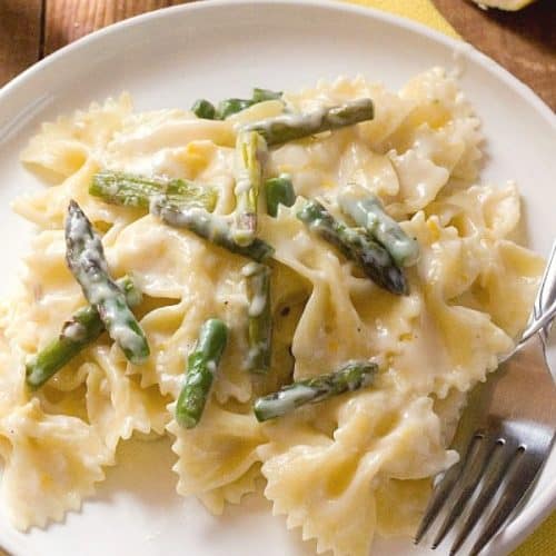
[[[152,198],[158,196],[163,196],[177,206],[197,205],[207,210],[214,210],[217,200],[212,188],[199,186],[193,181],[147,178],[111,170],[103,170],[92,177],[89,193],[101,197],[111,205],[143,209],[148,209]]]

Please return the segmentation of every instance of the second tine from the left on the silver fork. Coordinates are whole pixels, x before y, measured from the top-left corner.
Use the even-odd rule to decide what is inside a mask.
[[[489,457],[493,451],[500,447],[499,444],[490,441],[486,437],[475,437],[471,443],[470,455],[467,457],[466,466],[461,476],[456,485],[456,488],[450,495],[451,510],[446,516],[438,530],[435,540],[433,542],[433,549],[435,549],[443,540],[456,519],[463,514],[465,506],[471,497],[477,484],[483,476],[485,468],[488,465]]]

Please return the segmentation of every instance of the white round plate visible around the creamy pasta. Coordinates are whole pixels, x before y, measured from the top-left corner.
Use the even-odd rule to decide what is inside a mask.
[[[553,112],[523,83],[473,48],[423,26],[370,9],[310,1],[201,2],[162,10],[93,33],[38,63],[0,91],[0,230],[3,292],[29,240],[30,227],[10,200],[39,187],[18,151],[40,121],[129,90],[139,109],[189,107],[197,97],[248,95],[252,86],[298,88],[316,79],[363,72],[397,88],[435,64],[464,67],[461,86],[488,139],[485,181],[516,179],[529,245],[547,254],[556,237]],[[489,554],[506,554],[556,503],[556,455],[530,500]],[[0,522],[0,543],[21,555],[314,554],[287,532],[270,504],[247,497],[225,516],[208,515],[175,494],[169,443],[128,444],[120,464],[82,512],[28,535]],[[409,540],[376,545],[375,554],[425,554]],[[429,554],[427,552],[427,554]],[[443,554],[438,550],[437,554]]]

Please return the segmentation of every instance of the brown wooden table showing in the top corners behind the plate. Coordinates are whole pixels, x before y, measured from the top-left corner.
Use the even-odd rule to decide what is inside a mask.
[[[471,44],[525,81],[556,110],[556,6],[539,0],[516,13],[466,0],[434,0]],[[180,0],[0,0],[0,86],[83,34]]]

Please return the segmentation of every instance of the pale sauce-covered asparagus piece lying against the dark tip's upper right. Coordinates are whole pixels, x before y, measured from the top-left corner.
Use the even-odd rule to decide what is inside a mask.
[[[353,188],[338,198],[341,210],[363,226],[390,254],[396,265],[408,267],[419,258],[419,244],[384,210],[375,195],[361,197]]]

